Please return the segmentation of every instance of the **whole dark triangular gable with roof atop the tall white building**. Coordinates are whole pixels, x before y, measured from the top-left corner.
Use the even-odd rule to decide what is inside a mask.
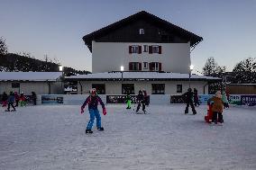
[[[139,33],[140,29],[144,29],[143,35]],[[194,47],[203,38],[151,13],[142,11],[87,34],[83,37],[83,40],[88,49],[92,51],[92,40],[99,42],[157,43],[187,43],[190,41],[190,46]]]

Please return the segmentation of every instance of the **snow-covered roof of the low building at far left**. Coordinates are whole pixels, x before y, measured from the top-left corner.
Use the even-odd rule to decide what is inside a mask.
[[[61,72],[0,72],[0,81],[56,81]]]

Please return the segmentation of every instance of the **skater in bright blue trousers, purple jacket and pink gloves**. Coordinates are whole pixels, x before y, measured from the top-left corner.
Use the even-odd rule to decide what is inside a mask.
[[[93,88],[90,90],[90,95],[87,97],[85,103],[81,106],[81,114],[84,112],[84,108],[88,104],[88,110],[90,113],[90,121],[87,124],[86,133],[93,133],[92,127],[94,125],[94,121],[96,118],[96,127],[97,130],[104,130],[101,126],[101,117],[97,109],[97,104],[100,103],[102,105],[103,114],[106,114],[105,104],[102,102],[101,98],[96,94],[96,89]]]

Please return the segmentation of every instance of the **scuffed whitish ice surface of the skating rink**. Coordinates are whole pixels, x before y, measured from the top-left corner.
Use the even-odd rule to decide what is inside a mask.
[[[151,105],[146,115],[107,105],[105,131],[90,135],[79,108],[0,108],[0,169],[256,169],[255,107],[224,110],[224,126],[209,126],[206,105],[195,116],[184,105]]]

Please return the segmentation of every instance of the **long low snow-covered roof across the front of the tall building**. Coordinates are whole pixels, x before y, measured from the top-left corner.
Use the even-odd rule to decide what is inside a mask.
[[[95,73],[87,75],[77,75],[77,76],[66,76],[65,79],[68,80],[86,80],[86,81],[120,81],[122,79],[121,72],[105,72],[105,73]],[[123,80],[133,81],[161,81],[161,80],[183,80],[187,81],[189,79],[189,74],[180,73],[159,73],[159,72],[123,72]],[[198,76],[191,75],[191,81],[220,81],[221,78],[213,76]]]

